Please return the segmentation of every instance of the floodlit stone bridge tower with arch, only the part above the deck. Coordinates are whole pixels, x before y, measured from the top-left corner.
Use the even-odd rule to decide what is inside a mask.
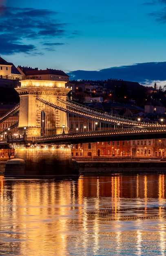
[[[22,80],[21,86],[15,88],[20,96],[20,114],[18,134],[27,137],[68,133],[67,117],[64,111],[53,109],[36,98],[66,107],[58,98],[66,101],[66,94],[71,90],[65,88],[65,81]],[[64,127],[64,128],[63,128]]]

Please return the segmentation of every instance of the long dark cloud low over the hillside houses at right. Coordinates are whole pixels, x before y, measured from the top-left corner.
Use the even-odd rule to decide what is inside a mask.
[[[69,72],[70,79],[107,80],[123,79],[146,84],[150,81],[166,81],[166,62],[137,63],[129,66],[110,67],[99,71],[76,70]]]

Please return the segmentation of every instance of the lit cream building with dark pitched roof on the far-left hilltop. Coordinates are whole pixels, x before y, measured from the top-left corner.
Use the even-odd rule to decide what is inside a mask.
[[[13,63],[5,61],[0,57],[0,79],[22,79],[22,74]]]

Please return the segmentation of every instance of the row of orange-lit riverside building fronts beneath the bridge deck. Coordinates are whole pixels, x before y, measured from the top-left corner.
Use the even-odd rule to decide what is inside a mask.
[[[166,157],[166,139],[103,141],[75,144],[73,157]]]

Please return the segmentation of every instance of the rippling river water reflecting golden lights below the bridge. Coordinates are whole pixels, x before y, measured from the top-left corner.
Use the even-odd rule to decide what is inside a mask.
[[[0,176],[0,255],[166,255],[166,174]]]

